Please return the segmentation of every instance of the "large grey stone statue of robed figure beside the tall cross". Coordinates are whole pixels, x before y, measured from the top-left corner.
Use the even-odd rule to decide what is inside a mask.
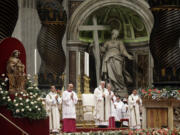
[[[112,30],[111,40],[106,41],[101,52],[104,53],[102,59],[101,76],[111,83],[116,93],[120,96],[127,94],[126,82],[132,82],[130,74],[125,69],[125,57],[132,60],[133,57],[127,52],[123,42],[118,39],[119,31]],[[120,91],[120,92],[118,92]],[[121,95],[121,92],[125,95]],[[123,93],[122,92],[122,93]]]

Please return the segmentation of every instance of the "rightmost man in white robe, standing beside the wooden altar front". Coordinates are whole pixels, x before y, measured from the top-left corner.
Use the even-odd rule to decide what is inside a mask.
[[[137,90],[128,97],[129,106],[129,126],[131,129],[140,129],[140,106],[142,105],[141,98],[137,95]]]

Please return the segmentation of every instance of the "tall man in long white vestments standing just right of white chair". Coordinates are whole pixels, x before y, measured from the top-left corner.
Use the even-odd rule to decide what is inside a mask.
[[[105,82],[101,81],[99,87],[94,90],[95,97],[95,123],[99,127],[107,127],[110,117],[110,103],[112,92],[109,93],[105,88]]]

